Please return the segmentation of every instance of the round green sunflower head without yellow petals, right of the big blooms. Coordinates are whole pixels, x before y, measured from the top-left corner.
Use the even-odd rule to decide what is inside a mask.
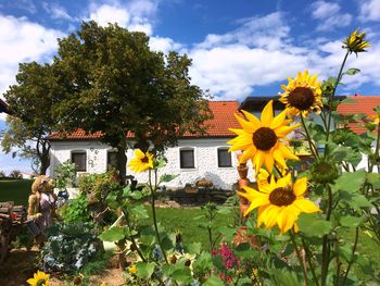
[[[319,159],[311,165],[312,179],[318,184],[332,183],[338,176],[337,165],[328,159]]]

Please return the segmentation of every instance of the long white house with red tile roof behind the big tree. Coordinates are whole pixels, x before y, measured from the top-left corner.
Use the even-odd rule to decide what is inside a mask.
[[[178,140],[176,147],[165,152],[167,165],[161,170],[162,174],[178,174],[167,187],[183,187],[205,178],[213,182],[220,189],[230,189],[238,179],[236,154],[229,153],[226,144],[236,135],[228,128],[240,128],[233,116],[238,110],[238,101],[210,101],[210,109],[214,117],[205,124],[210,126],[206,133],[189,135]],[[50,136],[50,174],[54,177],[54,170],[60,163],[72,160],[76,163],[77,173],[103,173],[116,158],[116,152],[99,139],[100,133],[86,135],[84,130],[76,130],[65,138],[59,135]],[[132,141],[132,138],[130,138]],[[134,150],[127,151],[127,160],[134,156]],[[134,175],[139,182],[145,182],[148,174],[135,174],[127,170],[127,175]],[[252,174],[250,174],[252,177]]]

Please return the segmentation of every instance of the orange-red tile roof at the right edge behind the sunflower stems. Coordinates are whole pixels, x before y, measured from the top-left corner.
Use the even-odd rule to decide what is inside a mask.
[[[373,115],[373,108],[380,105],[380,96],[351,96],[349,97],[356,101],[356,103],[342,103],[338,107],[338,112],[341,114],[359,114]],[[349,123],[349,127],[356,134],[366,132],[363,126],[364,122]]]

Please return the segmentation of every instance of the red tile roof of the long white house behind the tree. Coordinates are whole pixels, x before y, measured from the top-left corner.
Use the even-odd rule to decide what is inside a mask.
[[[235,137],[236,135],[228,130],[228,128],[240,128],[240,124],[235,119],[233,113],[239,108],[239,102],[233,101],[210,101],[210,110],[213,112],[214,117],[206,121],[204,124],[208,126],[204,135],[199,134],[185,134],[182,138],[218,138],[218,137]],[[50,140],[83,140],[83,139],[99,139],[102,137],[101,132],[93,134],[86,134],[83,129],[77,129],[71,134],[62,135],[59,133],[49,136]],[[128,133],[128,138],[132,138],[134,134]]]

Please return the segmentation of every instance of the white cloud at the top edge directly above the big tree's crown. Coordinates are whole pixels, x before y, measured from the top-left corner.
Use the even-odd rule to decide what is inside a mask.
[[[111,1],[103,4],[91,3],[89,10],[88,18],[94,20],[102,26],[117,23],[129,30],[152,35],[157,4],[149,0],[132,0],[127,4]]]

